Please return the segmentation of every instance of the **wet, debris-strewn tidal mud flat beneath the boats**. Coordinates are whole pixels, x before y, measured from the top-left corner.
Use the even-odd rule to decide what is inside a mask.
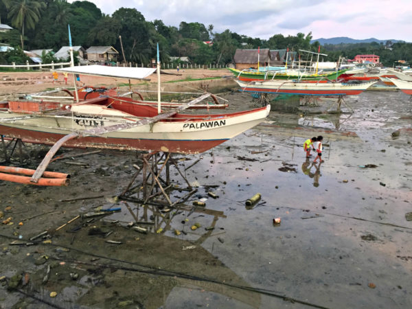
[[[229,111],[258,105],[224,98]],[[208,152],[175,155],[197,192],[173,208],[116,198],[139,152],[64,148],[49,170],[71,174],[69,187],[0,182],[1,308],[411,308],[411,101],[368,91],[345,103],[272,111]],[[323,163],[303,150],[317,135]],[[48,148],[26,146],[35,168]]]

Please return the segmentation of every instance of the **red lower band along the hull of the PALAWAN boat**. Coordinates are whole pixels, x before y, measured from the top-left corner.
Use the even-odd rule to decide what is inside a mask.
[[[45,133],[35,130],[25,130],[21,128],[10,128],[0,126],[0,132],[3,135],[16,137],[19,139],[28,139],[38,144],[53,145],[64,135],[56,133]],[[170,139],[118,139],[106,137],[80,137],[67,141],[64,147],[75,148],[111,148],[122,150],[158,150],[175,153],[201,153],[205,152],[228,139],[212,140],[170,140]]]

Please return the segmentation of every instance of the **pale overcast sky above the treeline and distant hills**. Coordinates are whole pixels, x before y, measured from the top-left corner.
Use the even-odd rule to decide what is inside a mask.
[[[89,0],[106,14],[135,8],[146,21],[214,25],[268,39],[274,34],[396,39],[412,42],[412,0]],[[69,0],[72,2],[72,0]]]

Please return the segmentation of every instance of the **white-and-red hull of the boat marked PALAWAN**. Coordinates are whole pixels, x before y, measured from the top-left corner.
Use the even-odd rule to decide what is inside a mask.
[[[270,106],[233,114],[212,115],[209,119],[199,115],[178,115],[169,121],[160,121],[105,133],[102,136],[84,136],[66,141],[65,147],[111,148],[120,150],[157,150],[183,154],[205,152],[223,142],[253,128],[264,121]],[[119,122],[133,122],[138,119],[122,116],[102,117],[98,115],[75,115],[71,117],[27,116],[27,119],[11,121],[22,117],[21,113],[0,113],[0,134],[30,140],[38,144],[55,144],[70,134],[98,126],[111,126]],[[23,115],[23,117],[25,117]],[[3,122],[2,122],[3,120]],[[117,122],[115,122],[117,121]]]

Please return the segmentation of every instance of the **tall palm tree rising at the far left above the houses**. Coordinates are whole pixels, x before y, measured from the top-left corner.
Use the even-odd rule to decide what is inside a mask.
[[[12,25],[21,28],[21,49],[24,49],[23,37],[24,29],[34,29],[38,19],[40,19],[41,8],[45,7],[43,1],[35,0],[9,0],[5,2],[9,12],[8,18]]]

